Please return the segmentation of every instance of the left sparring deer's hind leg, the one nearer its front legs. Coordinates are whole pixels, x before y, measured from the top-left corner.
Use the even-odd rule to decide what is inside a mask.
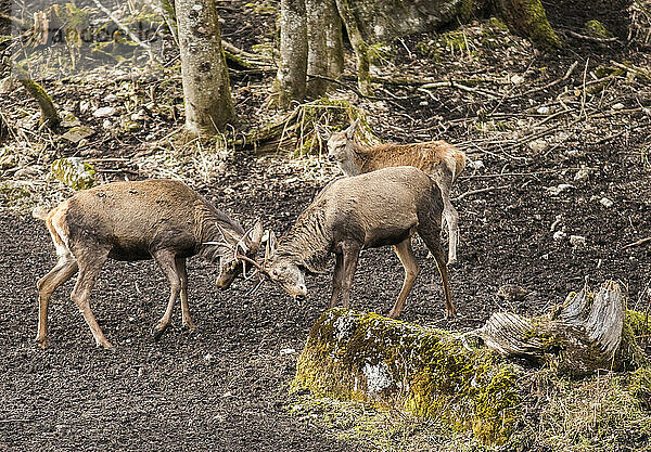
[[[113,348],[113,346],[108,340],[106,340],[102,328],[100,328],[100,325],[98,325],[98,321],[90,309],[89,299],[92,286],[94,285],[107,256],[108,249],[92,249],[87,250],[81,256],[77,257],[79,276],[77,277],[77,283],[75,284],[75,288],[71,294],[71,298],[75,305],[77,305],[79,312],[81,312],[84,320],[86,320],[86,323],[90,327],[90,332],[95,340],[95,345],[106,349]]]

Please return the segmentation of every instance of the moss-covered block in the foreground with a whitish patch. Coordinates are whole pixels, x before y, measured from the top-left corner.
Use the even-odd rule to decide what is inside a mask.
[[[378,314],[332,309],[312,326],[295,388],[371,400],[503,443],[519,415],[516,371],[458,335]]]

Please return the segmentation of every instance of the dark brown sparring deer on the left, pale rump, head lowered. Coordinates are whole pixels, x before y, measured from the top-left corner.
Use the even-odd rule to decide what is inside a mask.
[[[97,346],[111,348],[90,309],[89,297],[106,258],[154,259],[171,287],[165,314],[154,327],[157,339],[169,323],[180,294],[182,325],[194,330],[188,309],[186,259],[200,255],[219,260],[217,286],[228,288],[242,272],[238,254],[253,258],[259,248],[263,227],[248,232],[216,209],[184,183],[173,180],[115,182],[85,190],[49,214],[35,209],[46,221],[59,260],[38,282],[38,345],[48,345],[48,301],[61,284],[77,271],[73,301],[90,327]]]

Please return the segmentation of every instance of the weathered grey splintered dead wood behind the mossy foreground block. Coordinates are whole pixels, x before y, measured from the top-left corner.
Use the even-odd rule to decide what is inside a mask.
[[[505,357],[549,363],[571,375],[587,375],[622,364],[617,361],[625,357],[615,360],[615,352],[623,340],[625,312],[620,285],[608,281],[597,294],[586,285],[578,294],[571,294],[560,309],[541,318],[495,313],[474,333]]]

